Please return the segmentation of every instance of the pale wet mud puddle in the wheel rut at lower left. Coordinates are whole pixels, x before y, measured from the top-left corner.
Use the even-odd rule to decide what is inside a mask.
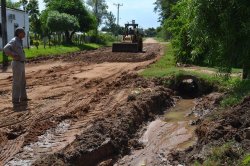
[[[22,150],[13,156],[5,165],[29,166],[42,155],[54,153],[64,148],[70,142],[73,142],[77,134],[77,131],[71,128],[72,122],[70,120],[62,121],[55,128],[49,129],[45,134],[39,136],[37,142],[24,146]]]

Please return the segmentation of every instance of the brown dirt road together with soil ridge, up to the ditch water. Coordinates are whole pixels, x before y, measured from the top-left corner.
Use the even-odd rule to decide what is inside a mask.
[[[13,108],[11,70],[0,74],[0,165],[112,164],[137,146],[140,126],[170,107],[172,91],[136,73],[163,49],[111,48],[43,57],[26,64],[31,101]]]

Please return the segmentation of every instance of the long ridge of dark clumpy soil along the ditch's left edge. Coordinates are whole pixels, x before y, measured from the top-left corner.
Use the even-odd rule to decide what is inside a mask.
[[[168,95],[166,90],[152,89],[152,91],[142,92],[138,101],[131,103],[124,101],[108,109],[97,107],[98,109],[93,111],[93,114],[88,114],[92,122],[88,122],[89,116],[86,117],[86,124],[91,124],[86,126],[90,127],[82,129],[82,133],[79,133],[72,144],[59,153],[43,158],[36,164],[50,165],[63,160],[62,165],[70,163],[95,165],[107,157],[112,159],[113,155],[124,153],[122,151],[127,151],[128,141],[139,126],[148,118],[152,118],[156,112],[161,112],[161,107],[171,105]]]

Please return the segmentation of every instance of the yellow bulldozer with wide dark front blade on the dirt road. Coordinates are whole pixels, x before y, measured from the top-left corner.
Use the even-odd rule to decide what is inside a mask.
[[[113,43],[112,52],[142,52],[142,49],[142,34],[139,32],[138,24],[132,20],[132,23],[125,24],[122,42]]]

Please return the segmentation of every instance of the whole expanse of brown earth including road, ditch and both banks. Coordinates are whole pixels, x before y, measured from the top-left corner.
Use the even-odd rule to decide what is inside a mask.
[[[176,93],[161,79],[137,74],[162,54],[162,46],[149,40],[142,53],[107,47],[29,60],[31,101],[15,109],[11,70],[2,72],[0,165],[189,165],[226,140],[249,151],[250,98],[212,122],[205,119],[223,94],[196,100],[191,112],[193,100],[169,109]]]

